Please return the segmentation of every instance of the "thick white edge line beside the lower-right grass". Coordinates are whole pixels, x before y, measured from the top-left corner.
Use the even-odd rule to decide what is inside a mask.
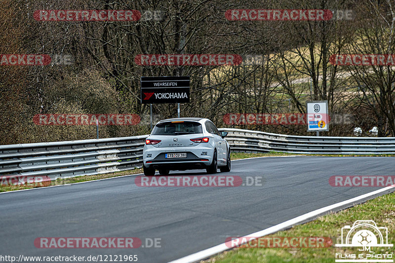
[[[342,201],[340,203],[336,203],[336,204],[333,204],[333,205],[325,206],[325,207],[319,208],[317,210],[311,211],[309,213],[303,214],[301,216],[295,217],[293,219],[287,220],[285,222],[282,222],[282,223],[280,223],[278,225],[271,226],[269,228],[263,229],[261,231],[255,232],[255,233],[251,233],[251,234],[243,236],[243,237],[262,237],[264,235],[273,234],[273,233],[275,233],[277,231],[283,230],[284,228],[288,228],[288,227],[290,227],[292,225],[296,225],[296,224],[301,223],[303,221],[306,221],[306,220],[308,220],[310,218],[316,217],[316,216],[318,216],[318,215],[320,215],[322,213],[328,212],[328,211],[330,211],[332,209],[341,207],[343,205],[350,204],[352,202],[355,202],[355,201],[358,201],[360,199],[363,199],[363,198],[375,195],[377,193],[384,192],[384,191],[386,191],[388,189],[391,189],[391,188],[394,188],[394,187],[395,186],[378,189],[378,190],[375,190],[375,191],[372,191],[372,192],[368,192],[368,193],[356,196],[354,198]],[[243,238],[243,237],[239,237],[239,238]],[[213,256],[213,255],[215,255],[217,253],[223,252],[223,251],[228,250],[228,249],[231,249],[231,247],[228,247],[226,245],[226,243],[222,243],[222,244],[216,245],[214,247],[211,247],[211,248],[208,248],[208,249],[196,252],[194,254],[185,256],[185,257],[180,258],[178,260],[171,261],[169,263],[193,263],[193,262],[197,262],[199,260],[206,259],[206,258],[208,258],[210,256]]]

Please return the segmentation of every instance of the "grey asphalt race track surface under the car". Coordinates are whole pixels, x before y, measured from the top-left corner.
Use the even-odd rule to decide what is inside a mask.
[[[232,171],[222,174],[261,176],[262,186],[138,187],[132,175],[1,193],[0,255],[137,255],[137,262],[168,262],[379,189],[331,187],[330,176],[394,176],[394,167],[394,157],[266,157],[232,161]],[[138,237],[143,246],[146,238],[160,238],[160,248],[39,249],[38,237]]]

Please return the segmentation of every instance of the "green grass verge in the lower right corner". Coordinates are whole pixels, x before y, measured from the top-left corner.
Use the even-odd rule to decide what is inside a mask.
[[[341,228],[345,225],[352,226],[356,220],[373,220],[378,227],[388,227],[388,244],[394,244],[395,193],[379,196],[265,237],[330,237],[336,244],[341,243]],[[376,254],[395,253],[394,247],[371,247],[371,251]],[[363,252],[353,247],[345,249],[334,245],[328,248],[234,248],[201,263],[334,263],[336,253],[358,255]]]

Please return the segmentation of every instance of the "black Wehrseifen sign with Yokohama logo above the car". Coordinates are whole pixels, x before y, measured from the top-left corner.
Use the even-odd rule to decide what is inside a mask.
[[[189,76],[142,76],[141,103],[189,102]]]

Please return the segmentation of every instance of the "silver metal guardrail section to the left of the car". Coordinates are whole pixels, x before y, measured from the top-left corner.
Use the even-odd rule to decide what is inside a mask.
[[[148,135],[0,146],[0,184],[43,181],[141,168]]]

